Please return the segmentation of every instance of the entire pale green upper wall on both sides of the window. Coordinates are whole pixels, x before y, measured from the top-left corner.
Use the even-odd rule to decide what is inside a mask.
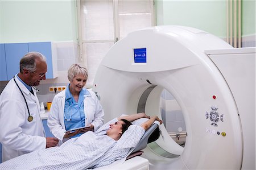
[[[157,25],[199,28],[226,36],[226,1],[155,0]],[[76,41],[75,0],[0,0],[0,43]],[[242,0],[242,36],[255,35],[255,0]]]

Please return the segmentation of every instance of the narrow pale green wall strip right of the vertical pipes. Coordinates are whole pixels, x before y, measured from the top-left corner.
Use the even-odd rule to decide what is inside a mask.
[[[255,0],[242,1],[242,36],[256,34]]]

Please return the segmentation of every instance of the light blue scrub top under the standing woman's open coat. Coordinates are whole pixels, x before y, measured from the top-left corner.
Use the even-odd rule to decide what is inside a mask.
[[[79,93],[79,100],[76,102],[69,90],[69,85],[65,92],[66,98],[64,107],[64,123],[67,131],[73,128],[85,126],[84,95],[89,93],[86,89],[82,89]],[[82,134],[77,134],[71,138],[75,138],[80,135]]]

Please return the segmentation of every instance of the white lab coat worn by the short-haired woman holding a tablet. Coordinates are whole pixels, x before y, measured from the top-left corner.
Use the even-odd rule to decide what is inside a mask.
[[[59,145],[65,142],[63,139],[66,131],[64,123],[65,91],[56,94],[53,98],[47,121],[50,131],[59,139]],[[96,94],[91,90],[88,92],[90,94],[84,95],[85,126],[91,123],[96,131],[103,125],[104,110]]]

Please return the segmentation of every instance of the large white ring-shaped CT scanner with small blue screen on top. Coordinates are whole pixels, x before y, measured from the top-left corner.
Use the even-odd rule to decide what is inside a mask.
[[[190,27],[145,28],[113,45],[93,86],[105,122],[141,111],[161,117],[163,89],[183,112],[185,147],[162,124],[142,157],[118,169],[255,169],[255,48]]]

